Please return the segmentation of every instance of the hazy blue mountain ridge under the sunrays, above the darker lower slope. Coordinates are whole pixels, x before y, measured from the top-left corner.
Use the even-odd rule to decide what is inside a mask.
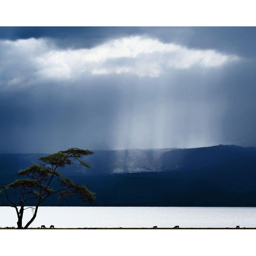
[[[4,169],[12,173],[37,163],[38,158],[47,154],[0,154],[0,173]],[[255,147],[218,145],[202,148],[165,148],[165,149],[126,149],[95,150],[94,154],[84,158],[91,169],[79,164],[66,167],[62,171],[81,174],[110,174],[172,171],[213,167],[248,166],[256,159]],[[241,166],[242,167],[242,166]],[[71,173],[70,173],[71,174]]]

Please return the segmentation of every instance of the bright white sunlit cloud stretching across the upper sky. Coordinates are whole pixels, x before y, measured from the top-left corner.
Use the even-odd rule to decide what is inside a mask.
[[[59,49],[47,39],[0,41],[1,83],[34,79],[76,79],[84,75],[134,74],[158,77],[168,69],[220,67],[236,55],[195,50],[157,39],[131,36],[91,49]]]

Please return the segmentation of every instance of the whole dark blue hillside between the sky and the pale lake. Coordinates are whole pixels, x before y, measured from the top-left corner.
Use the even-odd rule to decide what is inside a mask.
[[[93,206],[256,206],[256,148],[220,145],[155,153],[95,151],[93,159],[86,158],[94,167],[90,172],[78,166],[60,171],[97,193]],[[17,178],[14,169],[27,167],[35,157],[1,155],[6,168],[0,169],[1,183],[12,182]],[[123,172],[113,173],[118,168]],[[84,204],[76,198],[49,198],[44,205]]]

